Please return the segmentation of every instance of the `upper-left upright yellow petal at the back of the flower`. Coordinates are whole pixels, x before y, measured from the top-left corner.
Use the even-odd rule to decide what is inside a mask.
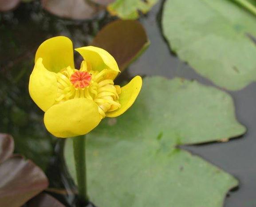
[[[64,36],[53,37],[44,41],[37,49],[35,62],[43,58],[43,65],[51,72],[74,66],[73,44],[70,39]]]

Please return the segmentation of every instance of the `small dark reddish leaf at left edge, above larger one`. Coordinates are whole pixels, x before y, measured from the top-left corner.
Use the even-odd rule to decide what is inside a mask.
[[[12,156],[14,141],[11,135],[0,133],[0,164]]]

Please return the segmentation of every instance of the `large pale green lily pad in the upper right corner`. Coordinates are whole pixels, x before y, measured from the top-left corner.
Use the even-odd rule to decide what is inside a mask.
[[[166,0],[162,18],[171,49],[199,74],[228,90],[256,81],[250,12],[230,0]]]

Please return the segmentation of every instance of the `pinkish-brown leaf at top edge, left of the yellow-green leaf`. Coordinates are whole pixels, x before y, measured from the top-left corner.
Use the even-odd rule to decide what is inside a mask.
[[[76,20],[90,19],[102,9],[86,0],[41,0],[41,3],[54,15]]]

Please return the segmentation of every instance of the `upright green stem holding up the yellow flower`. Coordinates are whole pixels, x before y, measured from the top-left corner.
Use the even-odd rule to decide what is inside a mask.
[[[78,136],[73,139],[75,170],[77,177],[79,199],[88,201],[86,184],[86,137]]]

